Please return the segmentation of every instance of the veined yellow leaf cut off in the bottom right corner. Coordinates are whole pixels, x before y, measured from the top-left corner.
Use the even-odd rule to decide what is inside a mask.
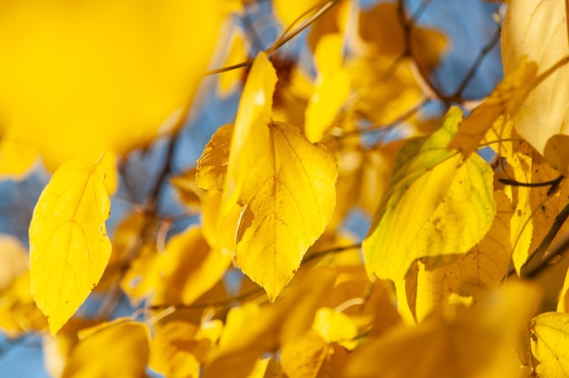
[[[569,377],[569,313],[541,313],[531,326],[535,372],[542,377]]]

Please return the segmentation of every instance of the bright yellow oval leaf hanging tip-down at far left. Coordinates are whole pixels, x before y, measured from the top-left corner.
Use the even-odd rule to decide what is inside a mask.
[[[45,186],[30,223],[31,290],[54,335],[105,271],[111,203],[98,165],[69,160]]]

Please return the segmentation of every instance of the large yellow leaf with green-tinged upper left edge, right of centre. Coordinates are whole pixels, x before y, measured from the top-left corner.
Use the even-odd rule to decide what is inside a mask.
[[[371,274],[396,282],[414,260],[440,264],[445,255],[465,254],[490,228],[492,168],[478,155],[464,159],[446,149],[461,115],[451,108],[438,131],[411,140],[397,155],[363,244]]]

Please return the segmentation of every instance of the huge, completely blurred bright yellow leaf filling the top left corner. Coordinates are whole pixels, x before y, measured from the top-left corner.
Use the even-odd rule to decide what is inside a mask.
[[[164,134],[205,72],[221,3],[3,1],[0,136],[10,143],[1,147],[28,144],[55,169]],[[3,163],[0,171],[15,174],[33,162],[31,150],[21,151],[26,164]]]

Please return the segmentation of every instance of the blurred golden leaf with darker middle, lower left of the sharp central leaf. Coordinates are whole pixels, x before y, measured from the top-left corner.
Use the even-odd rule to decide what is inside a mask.
[[[210,248],[202,230],[190,226],[166,244],[153,303],[193,303],[222,278],[232,258],[233,251]]]

